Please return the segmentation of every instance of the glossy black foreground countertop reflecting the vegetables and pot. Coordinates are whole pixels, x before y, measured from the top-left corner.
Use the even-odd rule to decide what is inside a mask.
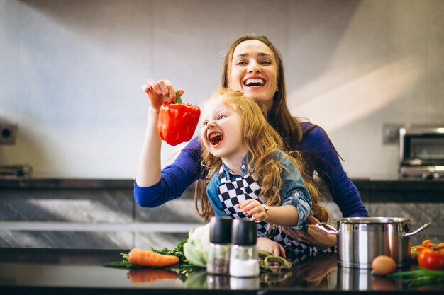
[[[179,279],[166,270],[106,268],[128,250],[0,248],[1,294],[436,294],[436,288],[409,288],[374,277],[368,270],[338,268],[335,255],[299,261],[287,275],[256,279],[194,272]],[[279,281],[280,279],[280,281]]]

